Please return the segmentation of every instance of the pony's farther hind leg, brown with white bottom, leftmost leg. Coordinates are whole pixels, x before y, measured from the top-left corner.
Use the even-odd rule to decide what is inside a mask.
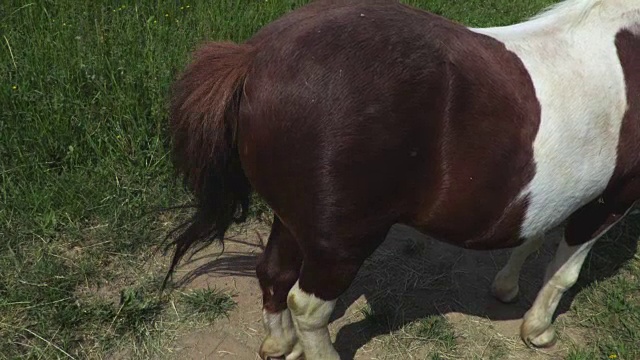
[[[302,253],[280,220],[275,217],[269,241],[256,267],[262,288],[262,316],[266,337],[260,346],[263,359],[290,355],[298,342],[287,295],[298,280]]]

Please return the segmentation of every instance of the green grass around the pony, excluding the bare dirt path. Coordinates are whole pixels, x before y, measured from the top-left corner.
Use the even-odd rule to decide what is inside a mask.
[[[489,26],[553,1],[405,2]],[[208,322],[232,311],[233,300],[214,290],[157,293],[165,268],[151,261],[156,247],[187,215],[158,209],[189,200],[167,158],[167,90],[196,44],[242,41],[304,3],[3,3],[0,359],[92,359],[123,349],[148,358],[186,324],[175,309]],[[573,325],[594,335],[571,356],[640,357],[638,263],[578,294]],[[585,279],[612,266],[590,264]]]

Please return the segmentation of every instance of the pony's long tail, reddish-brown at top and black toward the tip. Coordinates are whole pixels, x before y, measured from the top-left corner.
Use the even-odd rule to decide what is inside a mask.
[[[174,254],[163,289],[194,245],[199,245],[195,253],[222,241],[232,223],[246,220],[251,186],[240,164],[236,131],[251,54],[249,45],[209,43],[194,53],[172,86],[172,160],[195,196],[196,212],[165,247],[174,247]]]

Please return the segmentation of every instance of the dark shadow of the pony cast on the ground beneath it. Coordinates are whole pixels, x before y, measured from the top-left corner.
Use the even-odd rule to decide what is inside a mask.
[[[464,250],[425,237],[412,228],[394,226],[338,299],[332,322],[341,321],[352,305],[360,306],[356,302],[361,298],[367,301],[368,316],[338,330],[336,350],[342,359],[353,359],[356,351],[374,337],[430,315],[458,312],[489,320],[522,318],[542,285],[546,265],[555,253],[560,235],[560,230],[550,234],[542,249],[531,255],[522,269],[518,300],[503,304],[490,295],[489,289],[510,250]],[[585,261],[578,283],[564,294],[556,316],[569,310],[583,288],[616,275],[634,257],[639,237],[640,221],[632,213],[600,239]],[[202,275],[255,277],[257,255],[263,245],[234,238],[226,241],[238,243],[244,249],[250,246],[250,253],[234,251],[233,246],[233,250],[213,260],[212,254],[192,259],[200,265],[176,285],[186,285]]]

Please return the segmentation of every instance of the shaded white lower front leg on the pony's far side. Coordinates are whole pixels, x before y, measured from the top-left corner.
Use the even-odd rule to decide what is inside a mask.
[[[491,285],[491,292],[498,300],[509,303],[518,296],[520,270],[529,255],[537,251],[544,243],[544,235],[527,239],[513,250],[507,264],[498,272]]]

